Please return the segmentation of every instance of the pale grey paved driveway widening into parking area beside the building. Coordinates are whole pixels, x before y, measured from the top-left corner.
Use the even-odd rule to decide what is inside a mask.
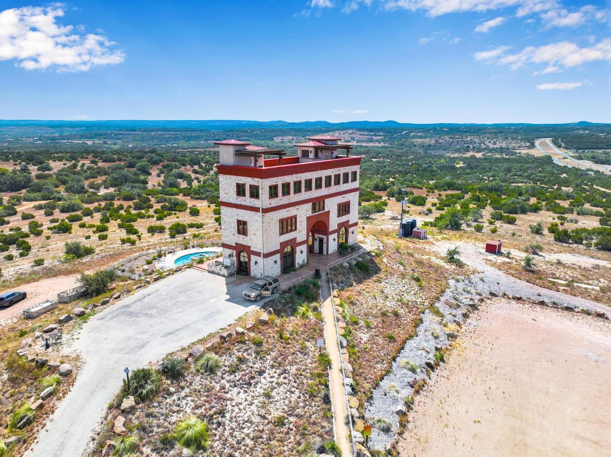
[[[68,348],[81,353],[84,366],[26,456],[82,455],[121,386],[123,368],[159,360],[254,309],[242,297],[248,285],[226,286],[222,277],[188,269],[93,316]]]

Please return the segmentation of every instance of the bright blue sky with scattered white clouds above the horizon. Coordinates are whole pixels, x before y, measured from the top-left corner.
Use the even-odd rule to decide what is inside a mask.
[[[611,122],[611,3],[0,1],[1,119]]]

